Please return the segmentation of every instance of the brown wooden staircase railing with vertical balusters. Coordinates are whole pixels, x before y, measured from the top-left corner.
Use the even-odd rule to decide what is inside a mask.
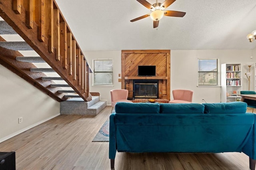
[[[90,67],[55,0],[0,0],[0,16],[64,79],[90,101]]]

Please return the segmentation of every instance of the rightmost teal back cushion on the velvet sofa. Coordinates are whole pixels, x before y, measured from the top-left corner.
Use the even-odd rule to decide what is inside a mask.
[[[228,103],[203,103],[204,113],[246,113],[247,104],[244,102],[228,102]]]

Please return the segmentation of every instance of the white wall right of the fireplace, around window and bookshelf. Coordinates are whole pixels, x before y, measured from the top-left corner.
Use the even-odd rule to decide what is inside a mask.
[[[219,58],[223,63],[242,63],[242,89],[248,90],[248,62],[256,62],[252,50],[171,50],[171,90],[190,89],[194,91],[193,102],[220,102],[221,87],[197,87],[198,58]],[[251,82],[251,86],[252,82]],[[172,96],[172,95],[171,95]]]

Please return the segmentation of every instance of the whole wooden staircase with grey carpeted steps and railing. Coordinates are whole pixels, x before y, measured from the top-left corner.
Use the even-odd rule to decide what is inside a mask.
[[[39,6],[32,0],[1,1],[0,64],[61,102],[61,114],[97,115],[106,102],[98,93],[89,93],[90,66],[55,1],[44,1]],[[42,16],[38,20],[27,10],[40,10]],[[17,32],[22,41],[3,38]],[[38,56],[22,55],[26,51]]]

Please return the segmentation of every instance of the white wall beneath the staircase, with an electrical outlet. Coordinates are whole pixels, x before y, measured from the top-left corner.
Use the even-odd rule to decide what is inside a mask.
[[[0,65],[0,142],[58,115],[59,102]]]

